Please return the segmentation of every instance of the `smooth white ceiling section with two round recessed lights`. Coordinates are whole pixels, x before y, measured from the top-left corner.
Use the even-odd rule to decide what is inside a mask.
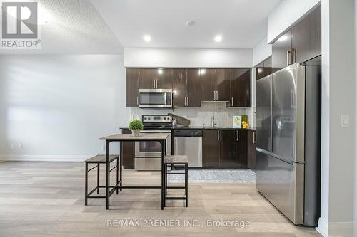
[[[253,48],[280,1],[91,0],[122,46],[159,48]],[[196,25],[186,26],[188,20]],[[216,34],[223,36],[220,43],[213,41]]]

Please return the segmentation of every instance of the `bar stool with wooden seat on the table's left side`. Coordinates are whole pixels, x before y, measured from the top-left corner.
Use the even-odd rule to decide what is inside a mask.
[[[109,172],[116,168],[116,185],[109,186],[110,188],[116,189],[119,184],[119,156],[116,154],[109,155],[109,165],[111,162],[116,160],[116,166],[111,168]],[[99,185],[99,169],[100,164],[106,164],[106,156],[105,154],[97,154],[95,157],[91,157],[90,159],[86,159],[86,184],[85,184],[85,198],[84,205],[87,205],[87,199],[105,199],[105,195],[91,195],[96,191],[96,194],[99,194],[99,189],[104,189],[106,186]],[[88,164],[96,164],[95,167],[88,169]],[[97,169],[96,169],[97,168]],[[96,169],[96,187],[88,193],[88,172],[92,169]],[[112,189],[112,190],[113,190]],[[118,189],[116,189],[116,194],[118,194]]]

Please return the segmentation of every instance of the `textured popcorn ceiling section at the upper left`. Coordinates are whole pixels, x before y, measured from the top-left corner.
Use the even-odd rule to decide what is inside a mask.
[[[49,19],[49,23],[40,26],[41,50],[0,50],[0,54],[116,54],[123,52],[118,38],[89,0],[37,1],[40,6],[39,15],[41,11],[45,12],[48,16],[46,19]]]

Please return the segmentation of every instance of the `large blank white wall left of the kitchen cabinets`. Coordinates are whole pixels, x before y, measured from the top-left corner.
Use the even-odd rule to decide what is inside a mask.
[[[0,56],[0,159],[103,153],[129,120],[124,76],[123,56]]]

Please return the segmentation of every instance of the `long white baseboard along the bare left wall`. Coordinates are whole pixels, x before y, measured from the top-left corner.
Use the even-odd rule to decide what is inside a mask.
[[[54,154],[0,154],[0,161],[21,162],[84,162],[93,155],[54,155]]]

